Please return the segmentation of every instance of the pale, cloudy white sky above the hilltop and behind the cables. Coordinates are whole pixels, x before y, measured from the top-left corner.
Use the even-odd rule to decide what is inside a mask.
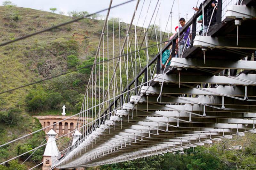
[[[0,4],[5,0],[0,0]],[[56,7],[59,13],[60,11],[65,12],[65,15],[68,15],[69,11],[88,11],[90,13],[100,11],[102,9],[108,8],[110,0],[11,0],[13,4],[16,4],[19,7],[32,8],[36,10],[50,11],[50,8]],[[127,0],[113,0],[112,6],[126,2]],[[172,9],[172,22],[171,19],[168,21],[169,14],[171,12],[171,7],[173,0],[140,0],[137,13],[134,18],[134,23],[138,26],[147,27],[150,23],[154,9],[156,10],[159,7],[159,12],[156,12],[153,17],[154,22],[156,18],[156,25],[161,26],[161,29],[166,32],[174,32],[174,28],[179,24],[179,18],[191,18],[194,14],[193,7],[199,7],[200,3],[203,0],[174,0],[174,5]],[[158,4],[157,4],[158,2]],[[134,0],[128,4],[124,4],[120,7],[111,9],[109,18],[121,18],[121,21],[130,23],[132,19],[132,14],[135,10],[137,0]],[[144,4],[143,4],[144,3]],[[157,4],[157,7],[156,7]],[[143,8],[142,8],[143,6]],[[142,9],[140,19],[139,14]],[[148,11],[148,12],[147,12]],[[100,15],[106,15],[107,12],[101,12]],[[188,15],[186,15],[188,14]],[[168,23],[167,23],[168,21]],[[137,24],[138,23],[138,24]],[[172,24],[171,24],[172,23]]]

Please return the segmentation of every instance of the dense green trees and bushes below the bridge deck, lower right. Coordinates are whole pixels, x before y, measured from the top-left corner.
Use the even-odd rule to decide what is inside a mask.
[[[184,154],[163,155],[100,166],[100,170],[232,170],[256,169],[256,136],[236,137],[184,150]],[[247,140],[247,141],[246,141]],[[241,142],[238,142],[241,141]],[[230,150],[230,144],[244,144],[242,150]]]

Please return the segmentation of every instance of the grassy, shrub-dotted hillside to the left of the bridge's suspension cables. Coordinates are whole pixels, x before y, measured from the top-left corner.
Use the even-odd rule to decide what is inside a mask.
[[[30,8],[0,6],[0,43],[72,19],[74,18]],[[103,22],[84,19],[1,47],[1,92],[73,70],[80,64],[90,64],[94,60]],[[115,41],[118,43],[118,38]],[[74,61],[75,64],[72,63]],[[84,61],[87,63],[83,63]],[[73,72],[51,81],[1,94],[0,144],[40,129],[40,123],[31,115],[59,114],[64,103],[68,115],[77,113],[88,76]],[[45,103],[49,105],[46,106]],[[35,148],[43,140],[44,132],[1,148],[0,162]],[[38,150],[36,155],[39,157],[32,157],[26,166],[31,167],[40,162],[43,151],[44,147]],[[19,160],[25,160],[28,155]]]

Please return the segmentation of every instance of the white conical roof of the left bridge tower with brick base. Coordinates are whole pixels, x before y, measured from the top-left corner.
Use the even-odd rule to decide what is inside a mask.
[[[44,150],[44,156],[60,157],[61,155],[55,141],[57,133],[51,129],[46,135],[48,135],[48,141]]]

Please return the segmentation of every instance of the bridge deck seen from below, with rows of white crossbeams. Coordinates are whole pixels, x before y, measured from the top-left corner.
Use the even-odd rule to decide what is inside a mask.
[[[255,5],[254,0],[244,2],[248,6]],[[90,125],[85,137],[71,146],[58,167],[122,162],[255,132],[256,74],[253,74],[255,64],[252,63],[256,62],[252,57],[255,49],[239,42],[248,41],[250,37],[252,40],[248,43],[256,47],[252,26],[256,20],[241,22],[238,46],[231,42],[230,47],[221,47],[228,40],[236,39],[234,22],[228,18],[211,27],[210,36],[203,37],[219,43],[214,44],[216,48],[207,47],[205,60],[202,51],[205,47],[194,44],[185,50],[182,58],[173,58],[164,74],[158,70],[137,95],[128,93],[129,102],[122,100],[121,107],[117,107],[117,101],[124,95],[114,99],[104,112],[106,116]],[[194,42],[198,40],[200,37],[195,37]],[[149,64],[156,62],[159,56],[160,53]],[[138,81],[148,71],[146,69],[132,83]],[[147,75],[143,78],[147,79]]]

